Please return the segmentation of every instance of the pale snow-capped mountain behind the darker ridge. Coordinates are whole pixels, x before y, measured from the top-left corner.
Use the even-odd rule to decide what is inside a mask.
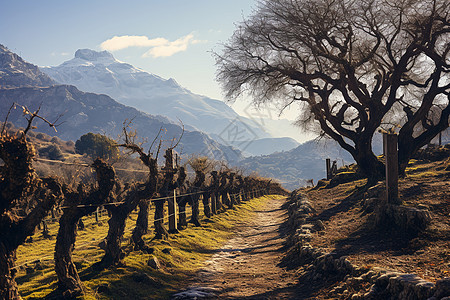
[[[153,115],[163,115],[187,128],[209,134],[216,141],[234,146],[246,155],[270,154],[299,145],[292,138],[274,138],[278,127],[288,121],[271,120],[270,129],[238,115],[224,102],[200,96],[181,87],[174,79],[163,79],[130,64],[116,60],[107,51],[80,49],[75,57],[43,72],[62,84],[82,91],[106,94],[118,102]],[[260,139],[260,142],[257,142]],[[252,142],[258,147],[247,147]],[[254,151],[256,150],[256,151]]]

